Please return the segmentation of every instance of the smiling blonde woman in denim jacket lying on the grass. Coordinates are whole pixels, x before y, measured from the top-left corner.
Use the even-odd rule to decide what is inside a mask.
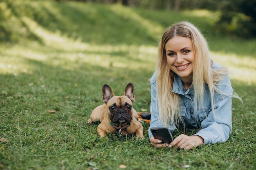
[[[193,24],[175,23],[164,32],[150,84],[150,128],[200,129],[192,136],[179,135],[171,144],[161,144],[148,130],[153,146],[187,150],[227,141],[231,97],[239,97],[233,93],[227,68],[212,62],[207,41]]]

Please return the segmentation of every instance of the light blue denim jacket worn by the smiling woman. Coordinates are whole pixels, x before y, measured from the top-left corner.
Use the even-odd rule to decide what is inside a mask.
[[[213,63],[213,67],[219,68],[220,65]],[[155,73],[150,79],[151,84],[151,121],[148,130],[149,138],[152,137],[150,128],[160,127],[163,124],[159,121],[157,104],[156,104],[156,77]],[[231,83],[229,76],[227,75],[225,79],[221,80],[217,85],[217,88],[226,93],[227,95],[222,95],[215,92],[215,115],[213,114],[211,108],[211,97],[207,84],[205,84],[205,96],[204,96],[204,107],[195,109],[193,106],[193,96],[194,88],[192,86],[185,91],[182,81],[178,75],[174,77],[173,92],[180,95],[180,115],[184,119],[184,123],[187,128],[198,128],[200,129],[198,135],[204,139],[204,144],[214,144],[217,142],[225,142],[229,139],[231,134],[232,120],[231,120],[231,97],[233,90],[231,88]],[[176,127],[170,125],[170,132],[172,133]]]

